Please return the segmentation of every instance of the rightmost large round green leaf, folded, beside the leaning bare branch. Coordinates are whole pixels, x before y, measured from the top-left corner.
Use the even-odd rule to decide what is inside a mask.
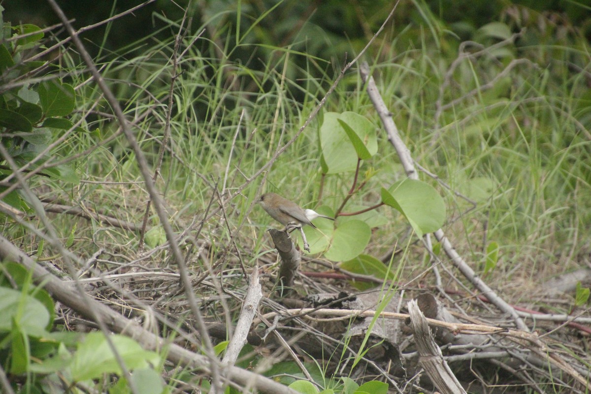
[[[443,198],[423,181],[406,179],[388,190],[382,188],[382,202],[400,211],[419,237],[435,232],[445,222]]]

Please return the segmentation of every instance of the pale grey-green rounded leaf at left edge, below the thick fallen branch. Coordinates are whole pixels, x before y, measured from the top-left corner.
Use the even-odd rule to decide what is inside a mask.
[[[11,331],[12,321],[28,333],[44,331],[50,323],[45,305],[15,289],[0,288],[0,331]]]

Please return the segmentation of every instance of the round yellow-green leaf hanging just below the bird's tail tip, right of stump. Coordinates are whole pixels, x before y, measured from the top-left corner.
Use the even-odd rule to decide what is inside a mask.
[[[371,228],[361,220],[339,223],[332,235],[330,249],[324,257],[332,261],[347,261],[365,250],[371,237]]]

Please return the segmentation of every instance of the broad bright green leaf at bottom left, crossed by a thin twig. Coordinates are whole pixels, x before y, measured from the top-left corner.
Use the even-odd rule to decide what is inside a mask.
[[[142,349],[131,338],[122,335],[111,335],[109,338],[129,370],[147,368],[150,364],[160,363],[158,354]],[[111,351],[105,335],[100,332],[86,334],[84,340],[79,343],[68,370],[74,382],[96,379],[103,373],[121,375],[121,366]]]

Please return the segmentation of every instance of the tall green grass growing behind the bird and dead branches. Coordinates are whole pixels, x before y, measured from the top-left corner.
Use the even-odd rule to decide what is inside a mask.
[[[427,13],[423,18],[434,17]],[[578,35],[561,38],[550,28],[532,34],[530,27],[518,45],[506,45],[506,51],[498,57],[486,50],[498,40],[485,37],[483,47],[469,49],[480,53],[457,60],[459,41],[437,21],[429,20],[425,27],[408,24],[400,31],[386,32],[366,58],[374,62],[371,65],[381,95],[413,157],[453,191],[477,203],[469,210],[471,205],[453,191],[426,174],[420,175],[444,196],[449,218],[444,230],[460,255],[482,273],[486,246],[498,242],[500,261],[486,281],[501,289],[522,284],[524,291],[504,296],[509,302],[530,301],[528,289],[578,268],[590,252],[588,77],[573,71],[573,65],[588,69],[588,43]],[[177,31],[178,25],[171,24],[171,30]],[[261,207],[253,206],[259,192],[278,191],[306,207],[327,204],[336,208],[352,182],[352,174],[327,176],[322,201],[318,200],[322,178],[318,128],[322,115],[266,174],[251,178],[267,164],[277,146],[285,144],[303,125],[338,73],[331,62],[341,59],[321,59],[316,53],[290,52],[289,47],[271,47],[268,43],[258,46],[254,37],[247,37],[252,43],[242,41],[239,50],[264,50],[265,56],[238,62],[232,57],[233,51],[238,51],[232,46],[235,37],[226,33],[228,37],[217,37],[225,42],[222,47],[202,38],[180,59],[178,71],[182,73],[174,84],[170,118],[171,151],[164,154],[157,180],[177,233],[194,220],[199,223],[209,201],[214,200],[209,213],[215,215],[204,222],[199,238],[191,238],[199,227],[195,226],[191,236],[184,239],[186,243],[207,244],[202,255],[194,255],[189,261],[196,275],[206,272],[208,265],[215,266],[217,273],[239,272],[239,259],[248,267],[255,261],[271,265],[269,256],[258,260],[272,249],[265,228],[274,225]],[[181,50],[192,38],[191,34],[184,38]],[[103,76],[154,166],[167,122],[168,90],[174,72],[169,60],[173,38],[157,42],[147,37],[135,45],[144,48],[139,57],[130,57],[135,55],[125,49],[119,57],[96,62],[104,67]],[[506,69],[514,59],[524,61]],[[73,53],[64,56],[63,67],[71,72],[69,79],[78,87],[79,116],[96,100],[99,105],[95,111],[100,113],[86,116],[84,125],[90,133],[73,135],[56,147],[55,153],[69,157],[90,150],[73,162],[79,177],[92,183],[71,185],[39,178],[37,191],[41,196],[60,198],[65,204],[81,204],[139,224],[148,197],[136,159],[122,135],[102,145],[118,124],[104,116],[111,110],[96,85],[83,84],[88,75],[74,73],[83,69],[80,64]],[[499,74],[494,86],[482,89]],[[438,111],[441,106],[444,109]],[[358,73],[349,71],[322,111],[358,112],[379,130],[379,153],[364,162],[361,171],[362,178],[370,168],[376,174],[350,205],[378,203],[379,188],[389,187],[405,175]],[[221,192],[225,179],[226,196],[242,192],[226,201],[221,211],[213,186]],[[345,207],[345,211],[349,209]],[[388,224],[374,230],[365,253],[379,257],[394,245],[402,248],[404,261],[395,263],[400,263],[404,282],[426,268],[424,252],[414,248],[414,239],[405,238],[407,225],[398,213],[386,207],[380,210]],[[76,225],[70,249],[82,261],[99,248],[105,249],[109,256],[97,265],[102,271],[139,257],[137,233],[69,215],[54,214],[51,220],[64,242]],[[148,226],[158,226],[153,207]],[[27,250],[34,250],[40,242],[17,224],[7,226],[6,234]],[[186,244],[183,248],[188,249]],[[46,245],[44,253],[50,256],[56,250]],[[135,265],[176,270],[168,253],[162,251]],[[427,276],[421,281],[431,279]],[[242,282],[229,279],[224,285],[239,288]],[[197,292],[216,293],[206,286],[197,288]]]

